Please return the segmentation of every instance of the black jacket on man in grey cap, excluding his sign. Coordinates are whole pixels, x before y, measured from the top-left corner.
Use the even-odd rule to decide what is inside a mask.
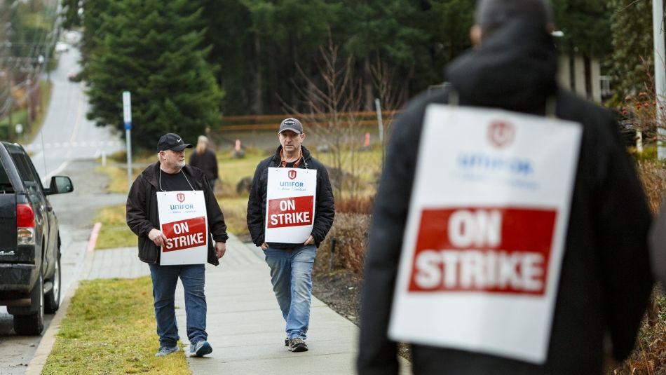
[[[266,226],[266,186],[269,179],[269,168],[280,166],[279,146],[276,154],[259,162],[257,169],[254,170],[252,178],[252,187],[250,188],[250,198],[247,200],[247,228],[250,229],[252,242],[254,245],[261,246],[264,243],[264,231]],[[310,151],[305,146],[301,146],[303,151],[303,161],[299,168],[317,170],[317,198],[315,202],[315,220],[312,228],[312,237],[315,239],[315,245],[319,247],[328,231],[333,225],[335,215],[335,205],[333,202],[333,189],[328,178],[328,171],[325,166],[317,159],[313,158]],[[269,243],[271,247],[277,249],[290,249],[294,243]]]

